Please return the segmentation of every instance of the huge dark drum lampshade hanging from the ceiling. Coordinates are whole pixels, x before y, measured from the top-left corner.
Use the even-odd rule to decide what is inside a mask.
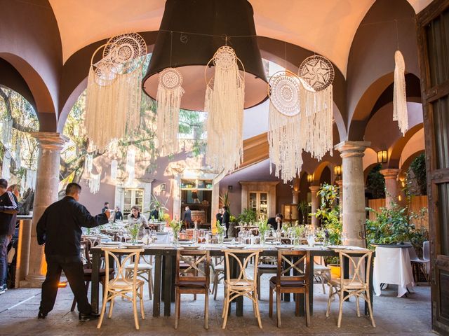
[[[267,99],[267,79],[255,35],[247,0],[167,0],[142,89],[156,99],[159,73],[174,67],[183,77],[181,108],[203,111],[205,66],[227,43],[244,66],[239,64],[245,75],[245,109],[256,106]],[[206,71],[206,78],[212,76],[213,66]]]

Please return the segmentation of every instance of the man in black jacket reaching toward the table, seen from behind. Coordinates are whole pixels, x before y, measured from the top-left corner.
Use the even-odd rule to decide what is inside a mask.
[[[95,228],[106,224],[110,212],[107,210],[103,214],[91,216],[86,207],[78,202],[80,193],[79,184],[69,183],[65,190],[66,196],[51,204],[37,223],[37,241],[39,245],[45,244],[47,261],[47,274],[42,283],[38,318],[45,318],[53,309],[62,270],[78,302],[79,319],[88,320],[99,316],[92,313],[83,281],[83,263],[80,255],[81,227]]]

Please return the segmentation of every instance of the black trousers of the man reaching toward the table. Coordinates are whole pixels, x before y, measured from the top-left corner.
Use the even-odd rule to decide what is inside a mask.
[[[83,314],[91,314],[92,308],[87,299],[86,283],[84,283],[83,263],[79,257],[63,255],[47,255],[47,274],[42,283],[40,311],[48,313],[55,305],[58,294],[58,283],[64,270],[70,288],[78,303],[78,310]]]

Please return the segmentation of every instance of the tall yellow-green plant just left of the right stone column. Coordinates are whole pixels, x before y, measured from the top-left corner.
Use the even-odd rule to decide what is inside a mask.
[[[318,191],[321,196],[319,209],[312,216],[321,219],[321,226],[330,244],[341,244],[342,223],[340,223],[340,209],[338,200],[338,187],[324,183]]]

